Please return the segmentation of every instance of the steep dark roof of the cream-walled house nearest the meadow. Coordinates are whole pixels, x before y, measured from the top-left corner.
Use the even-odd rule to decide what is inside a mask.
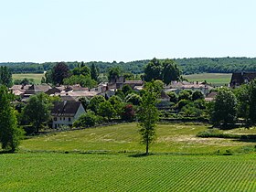
[[[56,101],[51,110],[53,116],[69,116],[76,114],[80,107],[80,101]]]

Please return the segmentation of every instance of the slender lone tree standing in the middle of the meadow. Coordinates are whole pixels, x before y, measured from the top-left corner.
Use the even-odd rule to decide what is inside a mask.
[[[154,82],[146,84],[146,90],[139,106],[138,120],[142,143],[145,144],[145,155],[148,155],[149,145],[155,140],[155,126],[159,119],[155,107],[159,92],[155,91]]]

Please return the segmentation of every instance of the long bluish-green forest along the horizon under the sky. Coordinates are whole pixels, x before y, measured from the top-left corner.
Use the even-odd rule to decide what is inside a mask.
[[[174,59],[177,66],[183,71],[183,74],[194,73],[230,73],[233,71],[256,71],[256,58],[192,58],[192,59]],[[110,67],[119,67],[123,72],[132,72],[133,74],[140,74],[144,72],[144,66],[150,61],[135,60],[131,62],[103,62],[91,61],[85,62],[85,66],[91,67],[92,63],[100,69],[101,73],[105,73]],[[12,73],[41,73],[52,69],[55,62],[46,63],[0,63],[0,66],[7,66],[12,70]],[[80,62],[66,62],[69,69],[74,69],[80,65]]]

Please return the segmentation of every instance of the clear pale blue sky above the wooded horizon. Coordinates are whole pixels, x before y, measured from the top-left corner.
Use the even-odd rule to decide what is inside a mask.
[[[0,0],[0,62],[256,57],[255,0]]]

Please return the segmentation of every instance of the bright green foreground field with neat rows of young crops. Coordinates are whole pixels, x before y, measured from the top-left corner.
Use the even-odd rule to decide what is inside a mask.
[[[255,155],[0,155],[0,191],[255,191]]]

